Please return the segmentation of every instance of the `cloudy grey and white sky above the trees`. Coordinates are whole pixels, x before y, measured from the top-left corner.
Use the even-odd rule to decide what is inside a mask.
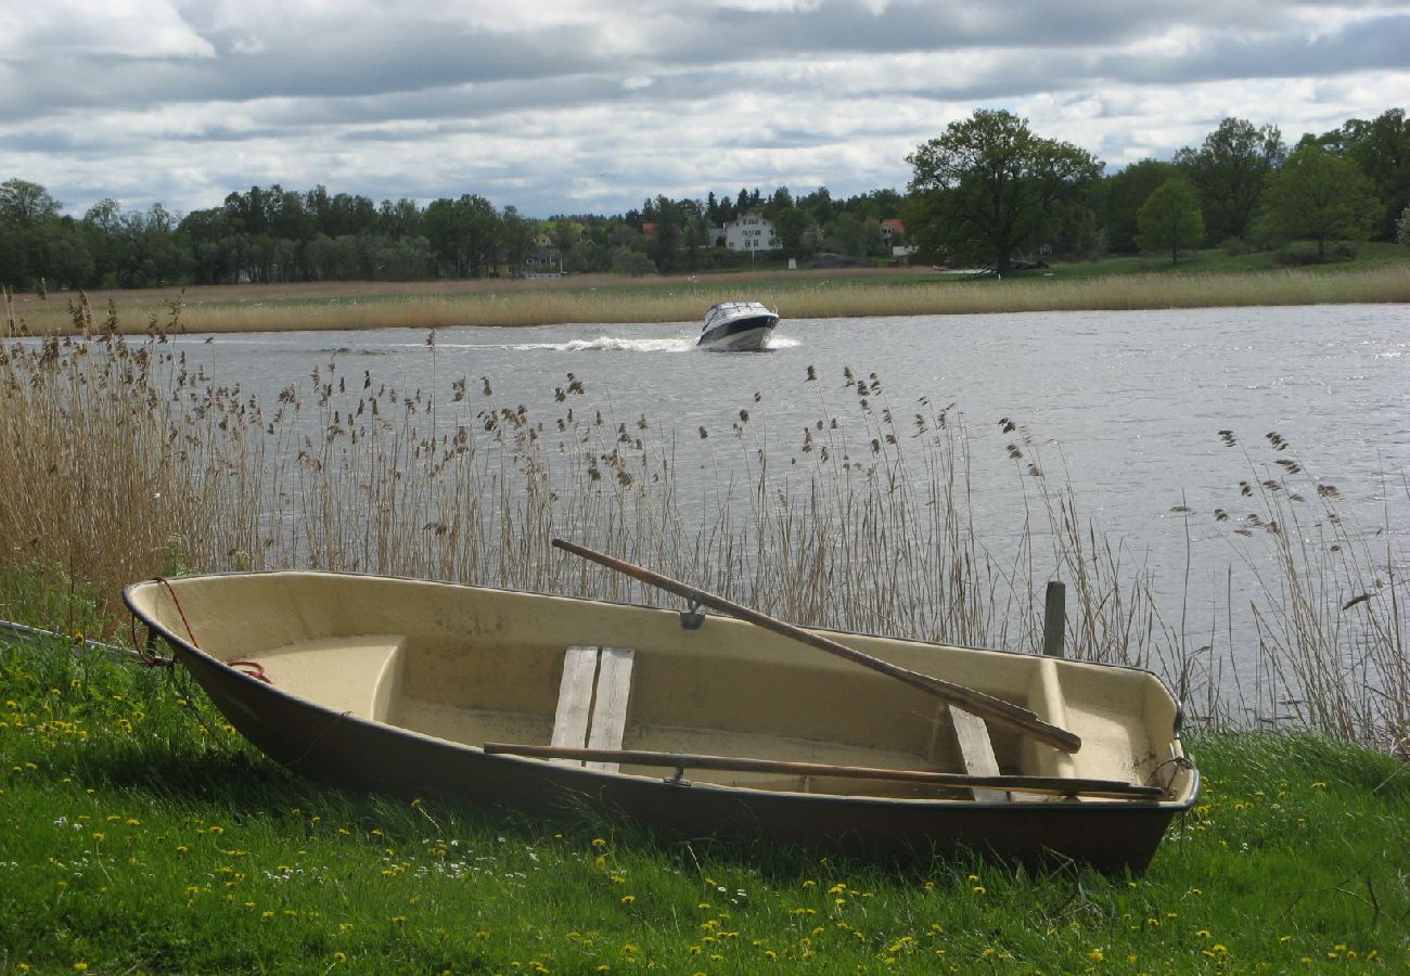
[[[0,0],[0,181],[75,216],[282,183],[527,216],[904,190],[1010,109],[1108,166],[1410,107],[1410,1]]]

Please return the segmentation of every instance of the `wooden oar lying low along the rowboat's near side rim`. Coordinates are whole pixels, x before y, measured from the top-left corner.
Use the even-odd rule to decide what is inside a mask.
[[[849,780],[895,780],[948,787],[987,787],[1012,793],[1043,793],[1059,797],[1117,797],[1120,800],[1159,800],[1165,791],[1158,786],[1138,786],[1121,780],[1079,780],[1060,776],[967,776],[964,773],[933,773],[924,769],[885,769],[874,766],[832,766],[801,763],[785,759],[743,759],[735,756],[701,756],[695,753],[647,752],[640,749],[582,749],[578,746],[530,746],[486,742],[486,753],[532,756],[534,759],[580,759],[589,763],[620,763],[636,766],[668,766],[685,769],[725,769],[740,773],[784,773],[788,776],[832,776]]]

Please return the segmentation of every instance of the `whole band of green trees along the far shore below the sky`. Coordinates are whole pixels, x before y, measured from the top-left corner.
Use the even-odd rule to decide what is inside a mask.
[[[887,257],[881,220],[902,217],[921,260],[1004,272],[1035,257],[1080,257],[1224,245],[1268,250],[1410,234],[1410,124],[1403,109],[1352,118],[1289,150],[1275,126],[1225,118],[1170,161],[1114,173],[1093,154],[1042,138],[1026,120],[977,110],[907,157],[914,176],[893,189],[833,199],[780,186],[736,196],[656,196],[616,216],[533,220],[479,195],[382,200],[279,185],[230,193],[179,216],[158,203],[124,210],[106,199],[82,217],[34,182],[0,183],[0,283],[147,288],[172,283],[413,281],[519,274],[551,247],[554,269],[619,274],[739,267],[756,255],[715,243],[744,213],[768,217],[771,258],[835,252]],[[1407,241],[1410,243],[1410,241]]]

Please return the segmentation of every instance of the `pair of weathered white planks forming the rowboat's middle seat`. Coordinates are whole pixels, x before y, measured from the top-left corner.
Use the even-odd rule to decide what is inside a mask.
[[[558,709],[553,719],[553,745],[577,749],[620,749],[626,707],[632,694],[630,647],[574,645],[563,656]],[[584,763],[556,759],[568,766],[618,771],[618,763]]]

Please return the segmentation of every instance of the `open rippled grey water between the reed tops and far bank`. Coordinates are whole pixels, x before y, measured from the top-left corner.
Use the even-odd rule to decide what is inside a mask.
[[[1201,513],[1228,508],[1249,477],[1244,451],[1272,457],[1268,433],[1285,437],[1366,519],[1379,518],[1386,494],[1404,495],[1404,305],[785,317],[761,354],[698,351],[695,331],[694,323],[444,329],[434,350],[426,333],[405,329],[183,341],[193,357],[209,357],[217,381],[238,379],[271,401],[336,360],[344,374],[371,370],[407,389],[429,392],[434,375],[441,401],[453,379],[486,377],[496,403],[546,415],[572,372],[618,420],[644,415],[675,429],[682,444],[701,426],[728,433],[749,409],[780,456],[819,416],[854,413],[843,378],[850,368],[860,378],[876,374],[876,405],[890,408],[901,427],[924,409],[922,398],[935,409],[953,403],[979,432],[1017,422],[1049,475],[1066,468],[1086,508],[1132,539],[1159,536],[1182,504]],[[807,381],[809,367],[815,382]],[[1239,446],[1227,447],[1221,430],[1232,430]],[[712,461],[721,450],[712,444]],[[983,488],[1004,492],[1011,478],[998,472],[1012,465],[990,463],[1005,458],[976,449],[977,471],[995,472]],[[1396,527],[1406,530],[1403,522]]]

